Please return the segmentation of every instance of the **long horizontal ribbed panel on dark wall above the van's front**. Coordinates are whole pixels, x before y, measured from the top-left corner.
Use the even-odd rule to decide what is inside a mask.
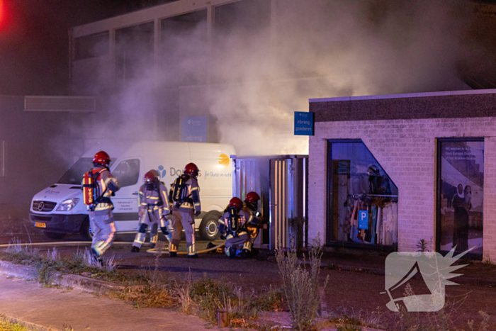
[[[25,96],[24,111],[93,112],[94,96]]]

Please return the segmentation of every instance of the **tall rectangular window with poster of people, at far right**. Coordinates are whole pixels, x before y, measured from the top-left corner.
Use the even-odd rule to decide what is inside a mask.
[[[436,249],[483,254],[484,140],[438,140]]]

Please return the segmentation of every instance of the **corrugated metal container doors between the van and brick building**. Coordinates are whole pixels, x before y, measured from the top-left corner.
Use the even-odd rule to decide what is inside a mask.
[[[232,194],[244,198],[247,192],[261,196],[262,214],[269,219],[269,229],[261,232],[258,244],[269,249],[291,246],[290,223],[306,219],[308,202],[308,157],[274,155],[267,157],[233,157]],[[298,229],[296,247],[306,245],[306,223]],[[293,240],[295,239],[293,229]],[[258,240],[258,239],[257,239]]]

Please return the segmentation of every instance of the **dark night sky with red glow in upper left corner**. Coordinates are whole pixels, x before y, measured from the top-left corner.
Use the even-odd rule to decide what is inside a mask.
[[[72,26],[164,0],[0,0],[0,94],[67,94]]]

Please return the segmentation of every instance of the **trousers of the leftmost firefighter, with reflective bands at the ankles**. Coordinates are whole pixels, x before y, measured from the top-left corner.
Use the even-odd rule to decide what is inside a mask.
[[[115,225],[111,209],[89,212],[89,225],[93,231],[91,248],[101,257],[112,245],[115,237]]]

